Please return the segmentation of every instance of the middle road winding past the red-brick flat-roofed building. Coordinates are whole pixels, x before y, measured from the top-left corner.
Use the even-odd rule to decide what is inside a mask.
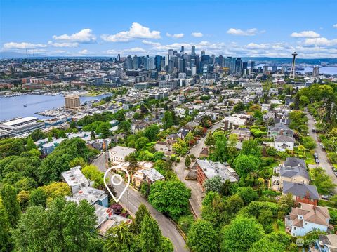
[[[213,132],[217,128],[220,128],[220,124],[214,124],[211,127],[210,131]],[[199,142],[197,143],[197,145],[195,145],[195,147],[192,147],[190,149],[190,154],[194,154],[195,157],[199,157],[201,150],[205,147],[205,140],[206,140],[206,136],[204,138],[201,138]],[[190,167],[192,167],[193,165],[194,163],[192,162]],[[185,177],[188,172],[189,171],[185,169],[185,157],[183,157],[180,159],[180,162],[176,166],[176,173],[180,181],[185,183],[185,185],[191,189],[190,204],[193,208],[195,215],[197,215],[197,218],[200,218],[202,199],[204,197],[204,193],[202,192],[201,186],[196,180],[185,180]]]

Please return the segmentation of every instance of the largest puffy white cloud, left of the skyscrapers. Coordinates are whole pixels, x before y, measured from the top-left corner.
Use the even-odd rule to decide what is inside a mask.
[[[144,27],[138,24],[138,22],[133,22],[128,31],[113,35],[103,34],[101,38],[107,42],[128,42],[134,39],[160,39],[161,37],[160,32],[151,32],[149,27]]]

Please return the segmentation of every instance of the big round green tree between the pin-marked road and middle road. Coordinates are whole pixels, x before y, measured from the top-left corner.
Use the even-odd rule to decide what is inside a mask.
[[[150,187],[149,202],[159,212],[178,218],[188,209],[191,190],[178,180],[157,181]]]

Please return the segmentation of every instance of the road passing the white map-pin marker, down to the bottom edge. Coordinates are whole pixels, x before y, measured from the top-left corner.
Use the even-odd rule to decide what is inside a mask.
[[[95,159],[95,161],[93,161],[93,164],[95,166],[98,166],[100,171],[105,172],[107,169],[105,160],[106,160],[105,154],[101,154],[100,157],[98,157],[97,159]],[[121,183],[121,185],[114,185],[114,190],[116,190],[117,196],[121,194],[125,186],[126,186],[125,183]],[[138,210],[138,206],[140,204],[145,204],[145,206],[151,213],[152,217],[157,220],[164,237],[167,237],[172,241],[174,251],[177,252],[189,251],[188,248],[186,248],[185,240],[176,229],[176,226],[173,223],[171,223],[171,221],[168,218],[166,218],[162,213],[159,213],[156,209],[154,209],[139,192],[132,190],[131,188],[128,189],[122,195],[121,199],[119,200],[119,203],[122,206],[124,206],[124,208],[128,208],[129,213],[131,213],[131,215],[133,216]]]

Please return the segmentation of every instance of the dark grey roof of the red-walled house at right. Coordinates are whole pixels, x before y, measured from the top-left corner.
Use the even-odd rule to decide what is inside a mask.
[[[319,194],[315,185],[306,185],[302,183],[284,181],[283,193],[288,194],[289,192],[298,197],[306,197],[308,195],[310,199],[319,199]]]

